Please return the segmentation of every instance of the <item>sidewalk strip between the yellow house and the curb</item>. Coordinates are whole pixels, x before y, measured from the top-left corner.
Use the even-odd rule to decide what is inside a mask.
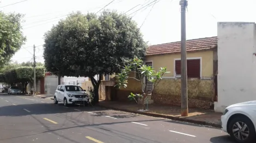
[[[189,108],[189,114],[187,117],[180,115],[180,107],[167,106],[167,105],[149,105],[149,111],[138,111],[139,105],[127,102],[117,101],[100,101],[99,106],[114,109],[117,111],[131,112],[136,114],[154,116],[158,118],[167,118],[172,120],[191,122],[193,124],[208,125],[217,128],[221,128],[221,113],[215,113],[214,111]]]

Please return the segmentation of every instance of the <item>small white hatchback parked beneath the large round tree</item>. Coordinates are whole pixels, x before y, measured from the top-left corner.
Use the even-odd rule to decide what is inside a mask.
[[[64,102],[64,106],[69,104],[81,103],[88,105],[89,96],[86,90],[83,90],[80,86],[74,85],[59,85],[54,94],[54,104],[58,102]]]

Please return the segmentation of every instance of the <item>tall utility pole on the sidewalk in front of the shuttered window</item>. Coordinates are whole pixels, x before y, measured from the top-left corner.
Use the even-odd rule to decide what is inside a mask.
[[[181,6],[181,116],[188,116],[187,105],[187,48],[186,48],[186,8],[187,1],[180,0]]]

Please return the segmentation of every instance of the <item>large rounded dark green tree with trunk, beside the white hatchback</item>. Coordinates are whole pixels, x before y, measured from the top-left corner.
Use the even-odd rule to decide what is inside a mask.
[[[109,10],[100,16],[70,14],[47,31],[44,40],[46,69],[60,76],[90,77],[95,102],[101,76],[119,72],[135,56],[143,59],[148,47],[135,21]]]

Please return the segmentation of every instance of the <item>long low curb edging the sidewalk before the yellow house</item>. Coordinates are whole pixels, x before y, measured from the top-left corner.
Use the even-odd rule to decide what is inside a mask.
[[[124,111],[124,112],[136,113],[136,114],[141,114],[141,115],[154,116],[154,117],[157,117],[157,118],[166,118],[166,119],[171,119],[171,120],[175,120],[175,121],[190,122],[190,123],[193,123],[193,124],[199,124],[199,125],[206,125],[206,126],[221,128],[221,124],[216,124],[216,123],[212,123],[212,122],[191,120],[191,119],[179,118],[179,117],[176,117],[176,116],[169,116],[169,115],[157,114],[157,113],[130,111],[129,109],[119,109],[119,108],[104,106],[104,105],[100,105],[100,104],[98,106],[103,107],[103,108],[113,109],[115,111]]]

